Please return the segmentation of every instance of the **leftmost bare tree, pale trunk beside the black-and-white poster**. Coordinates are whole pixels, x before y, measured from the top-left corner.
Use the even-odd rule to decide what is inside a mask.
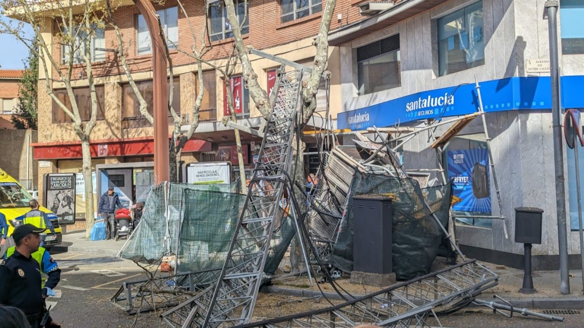
[[[91,40],[95,36],[96,28],[103,28],[103,8],[98,2],[89,0],[79,1],[54,1],[44,5],[43,8],[35,5],[34,2],[27,0],[3,0],[1,2],[2,11],[8,15],[18,16],[22,22],[29,23],[32,26],[32,40],[25,39],[22,31],[22,23],[13,23],[0,20],[0,33],[9,33],[22,41],[29,50],[37,55],[41,61],[44,71],[44,82],[46,85],[47,95],[53,102],[64,111],[72,120],[75,134],[81,141],[82,149],[82,173],[85,179],[85,218],[86,218],[86,236],[93,227],[94,208],[93,208],[93,184],[91,168],[91,132],[96,124],[98,112],[98,99],[96,96],[95,82],[93,81],[92,70],[92,48]],[[74,6],[82,8],[81,13],[74,12]],[[46,20],[49,13],[50,20]],[[46,24],[57,26],[54,33],[55,39],[60,41],[63,46],[64,58],[62,62],[55,60],[53,50],[55,44],[51,40],[45,40],[43,29]],[[51,30],[52,26],[49,26]],[[31,46],[36,44],[36,47]],[[79,111],[79,104],[75,98],[72,88],[72,72],[75,64],[83,64],[86,72],[86,81],[89,86],[91,97],[89,120],[85,120]],[[53,78],[53,72],[57,78]],[[60,82],[64,85],[67,93],[67,99],[71,104],[67,107],[55,95],[53,82]]]

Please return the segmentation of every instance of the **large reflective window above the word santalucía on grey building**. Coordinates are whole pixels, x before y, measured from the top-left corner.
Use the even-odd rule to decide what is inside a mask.
[[[438,19],[439,75],[485,64],[482,1]]]

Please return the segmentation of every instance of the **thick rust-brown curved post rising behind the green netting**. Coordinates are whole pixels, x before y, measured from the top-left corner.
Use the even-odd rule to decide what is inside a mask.
[[[144,16],[152,40],[152,101],[154,102],[154,183],[169,180],[168,170],[168,82],[166,51],[160,35],[156,9],[148,0],[134,0]]]

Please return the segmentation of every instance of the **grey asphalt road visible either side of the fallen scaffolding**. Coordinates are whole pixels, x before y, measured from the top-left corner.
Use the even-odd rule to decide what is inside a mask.
[[[88,253],[53,254],[62,270],[56,297],[47,299],[53,305],[51,315],[62,327],[158,327],[154,312],[131,316],[109,301],[123,281],[145,277],[134,263],[114,257]],[[444,327],[513,327],[555,328],[583,327],[584,310],[580,314],[561,315],[564,322],[548,322],[534,317],[493,315],[491,310],[467,308],[440,317]],[[136,320],[134,322],[134,320]],[[439,326],[430,319],[432,326]]]

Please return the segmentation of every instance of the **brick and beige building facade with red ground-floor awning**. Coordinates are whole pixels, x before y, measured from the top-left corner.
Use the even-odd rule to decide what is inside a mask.
[[[180,111],[185,128],[192,120],[192,106],[198,89],[196,61],[187,54],[190,53],[190,47],[193,44],[190,26],[193,26],[196,38],[200,40],[201,26],[204,24],[203,4],[203,1],[183,2],[186,15],[175,0],[166,1],[164,6],[155,5],[159,15],[164,17],[166,21],[164,29],[169,41],[173,44],[170,52],[175,90],[178,91],[175,92],[173,107]],[[326,3],[311,0],[307,4],[308,8],[297,8],[297,5],[292,5],[286,9],[279,1],[248,1],[246,11],[249,19],[244,31],[246,45],[287,60],[312,65],[315,55],[312,41],[318,33],[322,10]],[[331,30],[347,26],[362,18],[356,4],[357,2],[354,0],[337,2]],[[213,9],[214,6],[216,10]],[[234,46],[226,18],[223,15],[213,14],[223,13],[221,6],[221,2],[211,2],[210,17],[207,23],[210,26],[211,46],[213,48],[204,56],[204,60],[211,65],[203,65],[205,93],[203,106],[200,110],[201,123],[183,151],[182,159],[185,163],[214,161],[218,160],[219,149],[227,148],[232,149],[231,162],[235,167],[237,166],[237,157],[233,148],[235,145],[234,132],[221,123],[221,118],[225,115],[225,107],[227,107],[225,105],[224,76],[213,69],[213,65],[224,67],[228,53]],[[138,83],[142,95],[148,102],[151,100],[151,54],[148,53],[146,39],[141,37],[144,30],[141,26],[140,13],[134,6],[120,6],[114,13],[114,19],[121,30],[124,51],[133,79]],[[43,26],[41,26],[43,36],[52,46],[51,55],[55,61],[63,62],[62,46],[55,33],[57,29],[56,23],[47,16]],[[128,86],[126,75],[116,53],[112,51],[118,48],[113,27],[106,26],[103,30],[96,30],[92,47],[105,48],[105,51],[92,50],[92,71],[100,100],[98,121],[91,136],[93,167],[99,171],[99,167],[104,165],[150,162],[153,159],[151,150],[153,129],[137,110],[137,100]],[[273,76],[274,69],[279,67],[279,63],[254,55],[251,55],[251,60],[255,72],[259,76],[260,85],[267,89],[268,79]],[[331,95],[339,95],[340,93],[339,61],[339,48],[329,47],[328,69],[332,72]],[[42,62],[40,64],[42,65]],[[58,68],[53,67],[49,71],[53,81],[55,81],[51,82],[51,88],[55,90],[58,97],[66,100],[64,94],[60,92],[64,85],[57,82],[56,69]],[[241,72],[241,67],[236,67],[234,81],[232,81],[232,84],[235,85],[241,81],[237,72]],[[75,64],[72,79],[74,80],[77,101],[83,107],[80,110],[81,116],[89,118],[89,93],[84,64]],[[45,88],[46,80],[44,79],[44,70],[41,67],[39,90]],[[242,113],[238,114],[238,123],[252,128],[259,127],[262,118],[259,111],[253,106],[253,100],[250,99],[244,87],[238,90],[241,90],[243,100],[243,109]],[[235,97],[237,95],[234,90]],[[325,97],[325,90],[321,90],[318,95],[319,106],[317,110],[326,109]],[[340,97],[331,96],[330,108],[333,118],[336,118],[336,113],[341,107]],[[34,158],[41,160],[42,163],[42,167],[39,168],[39,186],[42,186],[44,173],[81,172],[81,151],[79,150],[80,143],[73,130],[73,123],[55,105],[47,93],[39,93],[39,109],[39,142],[34,144]],[[169,123],[171,123],[171,118],[169,118]],[[172,131],[172,125],[169,129]],[[242,132],[242,143],[245,166],[249,168],[253,164],[253,156],[258,151],[260,139]],[[136,146],[137,144],[142,146]],[[97,180],[99,184],[100,178],[97,177]],[[100,194],[101,190],[96,190],[96,192]],[[39,192],[39,196],[42,198],[42,192]],[[77,196],[78,215],[84,208],[85,201],[81,197],[81,194]]]

